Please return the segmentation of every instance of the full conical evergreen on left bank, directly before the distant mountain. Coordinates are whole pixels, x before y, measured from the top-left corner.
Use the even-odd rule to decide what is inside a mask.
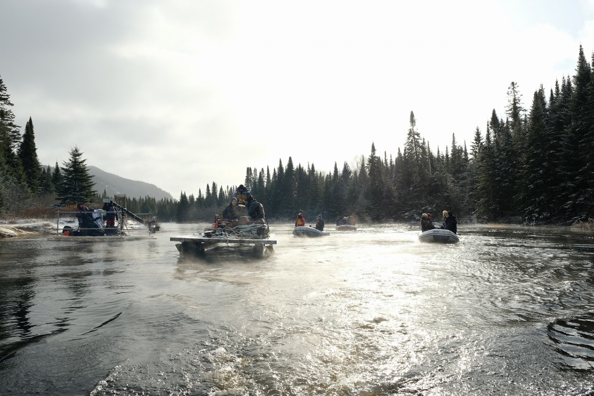
[[[83,153],[77,146],[70,150],[69,155],[69,160],[62,167],[64,179],[58,199],[62,204],[88,203],[97,192],[93,190],[93,176],[85,164],[87,160],[83,159]]]

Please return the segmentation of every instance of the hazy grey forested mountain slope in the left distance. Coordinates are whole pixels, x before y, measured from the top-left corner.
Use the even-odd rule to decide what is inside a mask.
[[[113,173],[105,172],[96,166],[87,166],[87,169],[89,169],[89,174],[93,176],[94,189],[99,195],[103,194],[103,190],[105,190],[109,197],[113,197],[113,194],[126,194],[128,198],[144,198],[148,195],[157,199],[157,201],[165,198],[173,199],[169,192],[154,184],[124,179],[121,176],[113,175]]]

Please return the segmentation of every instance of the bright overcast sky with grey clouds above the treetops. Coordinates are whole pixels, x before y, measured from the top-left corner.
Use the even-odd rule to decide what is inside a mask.
[[[0,77],[40,163],[87,165],[174,198],[289,157],[321,172],[396,157],[410,128],[470,150],[516,82],[594,51],[594,0],[0,0]],[[125,191],[123,192],[125,193]]]

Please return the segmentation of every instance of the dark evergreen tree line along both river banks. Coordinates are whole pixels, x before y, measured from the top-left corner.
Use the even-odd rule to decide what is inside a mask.
[[[330,171],[294,164],[247,167],[241,180],[264,204],[268,220],[287,221],[299,212],[326,220],[355,216],[359,221],[412,221],[421,213],[451,210],[462,220],[573,223],[592,216],[594,204],[594,53],[592,64],[580,46],[576,74],[555,81],[547,94],[539,87],[525,109],[519,85],[508,87],[505,115],[492,110],[484,132],[473,141],[432,151],[410,112],[403,150],[371,151],[354,163],[334,163]],[[0,208],[35,197],[62,204],[105,198],[93,191],[78,147],[55,167],[40,166],[33,121],[24,133],[15,125],[10,96],[0,78]],[[239,183],[238,183],[239,184]],[[179,200],[128,198],[133,213],[154,213],[162,221],[211,221],[229,204],[236,185],[206,185]]]

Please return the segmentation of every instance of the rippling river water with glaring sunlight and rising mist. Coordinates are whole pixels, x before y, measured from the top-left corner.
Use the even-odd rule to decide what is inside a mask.
[[[1,395],[591,395],[594,235],[410,225],[179,258],[0,240]]]

